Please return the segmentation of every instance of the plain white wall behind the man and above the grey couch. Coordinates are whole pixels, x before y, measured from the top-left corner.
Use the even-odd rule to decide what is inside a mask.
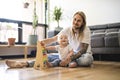
[[[120,0],[50,0],[50,11],[54,6],[63,9],[61,27],[71,25],[72,16],[76,11],[84,11],[87,25],[120,22]],[[51,22],[50,28],[56,26]]]

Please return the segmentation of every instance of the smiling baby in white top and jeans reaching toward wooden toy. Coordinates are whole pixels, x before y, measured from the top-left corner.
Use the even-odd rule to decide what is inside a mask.
[[[65,34],[59,35],[58,43],[59,45],[46,47],[47,50],[57,50],[58,53],[60,54],[60,59],[55,59],[52,62],[46,62],[48,67],[63,66],[63,64],[65,64],[64,60],[67,59],[67,57],[73,55],[73,49],[68,43],[67,35]]]

